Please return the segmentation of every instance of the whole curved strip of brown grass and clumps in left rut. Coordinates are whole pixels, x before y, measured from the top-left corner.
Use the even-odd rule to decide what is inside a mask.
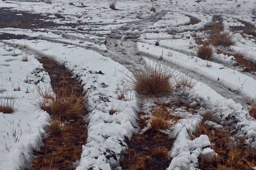
[[[40,59],[40,62],[54,86],[53,90],[50,86],[44,87],[45,90],[38,89],[36,106],[43,106],[53,121],[46,125],[48,133],[44,137],[44,145],[34,153],[36,159],[30,169],[74,169],[74,163],[81,158],[82,145],[87,138],[87,124],[82,117],[86,109],[80,86],[65,66],[46,58]],[[54,66],[58,70],[52,69]],[[72,91],[74,89],[76,91]]]

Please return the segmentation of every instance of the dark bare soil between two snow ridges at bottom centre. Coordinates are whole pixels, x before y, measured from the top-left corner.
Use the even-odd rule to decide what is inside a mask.
[[[144,115],[145,113],[140,112],[138,117]],[[142,119],[138,119],[138,124],[141,128],[146,126],[146,123]],[[155,131],[155,130],[147,130],[143,134],[133,134],[130,141],[127,141],[128,149],[134,150],[138,153],[141,157],[148,156],[149,160],[146,161],[145,169],[146,170],[165,170],[171,160],[168,159],[168,154],[166,156],[159,157],[153,153],[153,149],[160,147],[160,148],[167,148],[168,151],[173,146],[173,139],[168,137],[168,135]],[[123,170],[130,169],[130,163],[132,164],[133,160],[130,160],[132,155],[127,152],[124,154],[124,159],[120,162],[121,168]],[[140,168],[139,168],[140,169]]]

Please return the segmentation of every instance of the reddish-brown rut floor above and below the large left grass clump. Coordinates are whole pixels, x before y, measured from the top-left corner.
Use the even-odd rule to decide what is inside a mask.
[[[51,84],[54,93],[63,92],[65,101],[69,100],[73,93],[76,97],[81,97],[83,89],[76,79],[72,78],[71,73],[65,66],[56,63],[48,58],[39,60],[48,72],[51,78]],[[83,105],[83,103],[82,103]],[[87,124],[83,116],[87,114],[85,106],[83,107],[81,116],[72,117],[62,120],[61,130],[46,134],[43,142],[44,146],[38,152],[34,152],[36,159],[32,162],[31,170],[72,170],[76,161],[81,157],[82,145],[87,139]],[[52,122],[56,120],[52,119]],[[57,120],[59,121],[59,120]],[[52,125],[52,123],[50,124]],[[58,124],[59,125],[59,124]],[[54,129],[53,129],[54,130]],[[47,130],[46,127],[46,132]],[[50,131],[51,132],[51,131]]]

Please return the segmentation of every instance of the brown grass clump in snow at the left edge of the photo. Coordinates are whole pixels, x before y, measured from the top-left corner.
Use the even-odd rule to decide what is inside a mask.
[[[2,113],[13,113],[16,109],[16,96],[0,98],[0,112]]]

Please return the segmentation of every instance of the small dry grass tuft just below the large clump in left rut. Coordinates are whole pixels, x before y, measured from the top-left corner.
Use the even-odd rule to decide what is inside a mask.
[[[46,125],[47,134],[54,137],[60,135],[63,130],[67,130],[67,126],[59,120],[53,120],[50,124]]]

